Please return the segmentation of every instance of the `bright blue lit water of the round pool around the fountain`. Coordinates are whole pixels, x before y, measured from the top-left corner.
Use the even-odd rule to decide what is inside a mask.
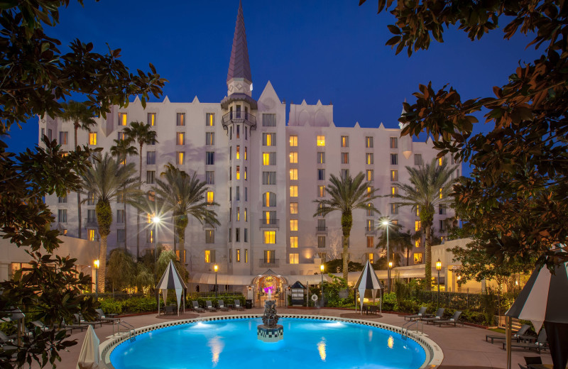
[[[284,339],[264,343],[258,324],[230,319],[157,329],[121,343],[110,360],[116,369],[416,369],[426,358],[412,339],[372,326],[283,318]]]

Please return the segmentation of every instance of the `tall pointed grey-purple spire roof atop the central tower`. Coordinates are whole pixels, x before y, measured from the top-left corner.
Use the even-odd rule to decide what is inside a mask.
[[[244,78],[249,82],[253,80],[249,62],[249,48],[246,45],[243,4],[241,1],[239,1],[239,12],[236,13],[235,35],[233,37],[233,48],[231,49],[231,60],[229,61],[229,72],[226,74],[226,81],[229,82],[233,78]]]

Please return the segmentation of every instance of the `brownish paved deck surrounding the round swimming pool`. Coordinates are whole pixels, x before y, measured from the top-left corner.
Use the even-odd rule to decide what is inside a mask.
[[[163,323],[164,319],[178,320],[188,319],[193,316],[216,316],[216,315],[233,315],[233,314],[262,314],[261,308],[245,309],[244,312],[207,312],[202,314],[195,314],[186,312],[185,316],[178,318],[176,315],[160,316],[158,318],[155,314],[146,314],[138,316],[128,316],[124,321],[133,325],[136,328],[141,326],[148,326],[151,324]],[[353,314],[351,310],[344,309],[286,309],[278,308],[279,314],[305,314],[305,315],[324,315],[324,316],[342,316],[344,314]],[[351,318],[351,314],[349,317]],[[360,319],[368,319],[371,321],[379,321],[384,324],[391,324],[393,326],[402,326],[405,320],[402,316],[397,314],[384,314],[381,317],[376,315],[362,314]],[[111,324],[103,324],[102,327],[97,327],[95,333],[99,337],[101,343],[107,340],[107,337],[112,334]],[[488,369],[488,368],[506,368],[506,353],[502,349],[503,341],[496,341],[491,344],[485,341],[485,335],[493,332],[486,329],[476,328],[474,326],[461,326],[457,327],[445,325],[442,327],[432,326],[430,324],[424,325],[424,333],[428,338],[435,341],[442,351],[444,352],[444,360],[442,365],[438,368],[466,368],[466,369]],[[85,332],[74,332],[70,338],[77,339],[77,345],[69,348],[68,352],[62,352],[62,362],[57,364],[58,369],[75,369],[79,352],[83,342]],[[518,368],[518,363],[524,365],[525,360],[523,356],[539,356],[534,351],[513,349],[512,352],[512,366],[511,368]],[[550,353],[541,353],[542,363],[552,364]],[[34,367],[36,367],[34,365]]]

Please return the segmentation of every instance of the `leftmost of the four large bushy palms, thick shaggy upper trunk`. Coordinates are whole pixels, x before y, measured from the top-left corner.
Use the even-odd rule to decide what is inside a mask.
[[[96,214],[99,225],[99,290],[104,292],[104,280],[107,268],[107,236],[112,224],[111,202],[121,194],[126,197],[138,193],[138,181],[133,177],[136,168],[133,163],[119,165],[109,153],[82,173],[83,193],[90,192],[97,201]],[[87,199],[83,200],[87,201]]]

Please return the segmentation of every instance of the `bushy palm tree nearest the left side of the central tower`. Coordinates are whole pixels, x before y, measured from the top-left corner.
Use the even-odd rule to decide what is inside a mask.
[[[185,228],[189,222],[188,216],[200,221],[201,224],[220,224],[212,206],[217,203],[207,202],[205,192],[207,184],[198,180],[195,173],[190,176],[183,170],[168,163],[165,172],[160,173],[163,180],[157,179],[153,187],[156,195],[156,205],[163,211],[171,211],[174,221],[175,234],[179,239],[180,259],[185,252]],[[185,266],[185,261],[182,263]]]

